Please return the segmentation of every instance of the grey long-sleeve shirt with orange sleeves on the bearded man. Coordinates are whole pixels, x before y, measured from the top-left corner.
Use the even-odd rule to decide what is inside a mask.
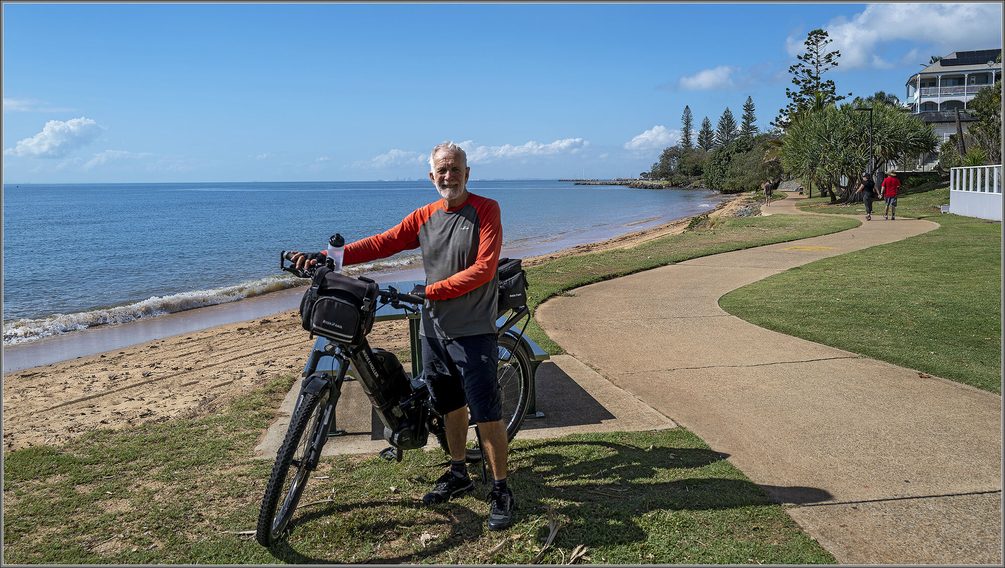
[[[422,309],[420,332],[453,339],[496,331],[501,245],[498,204],[468,194],[454,209],[439,200],[380,235],[346,245],[344,262],[371,262],[422,247],[429,302]]]

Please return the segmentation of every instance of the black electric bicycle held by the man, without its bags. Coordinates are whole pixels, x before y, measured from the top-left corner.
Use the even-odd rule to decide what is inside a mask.
[[[298,270],[292,266],[284,266],[283,260],[290,258],[291,254],[285,251],[280,253],[279,267],[301,278],[313,277],[319,268]],[[364,277],[356,280],[374,285],[372,280]],[[399,292],[393,286],[377,288],[376,299],[369,313],[364,314],[371,322],[373,312],[383,305],[418,313],[417,308],[408,306],[408,303],[424,302],[423,298]],[[508,441],[513,440],[524,422],[533,389],[530,355],[527,347],[521,343],[523,329],[519,334],[515,332],[515,326],[521,319],[528,317],[530,321],[529,315],[526,303],[497,314],[498,318],[507,316],[505,323],[498,328],[497,377],[502,394],[502,419],[507,427]],[[525,329],[526,325],[525,323]],[[369,328],[365,328],[362,336],[355,341],[329,338],[322,348],[316,346],[312,349],[286,436],[276,454],[275,465],[262,497],[255,530],[255,540],[262,546],[271,546],[282,538],[304,494],[310,474],[318,467],[325,443],[333,436],[331,425],[335,419],[342,385],[346,381],[360,382],[384,423],[384,439],[391,446],[380,452],[382,458],[401,462],[404,451],[424,448],[429,434],[435,436],[443,450],[449,454],[443,416],[432,407],[425,379],[421,373],[409,379],[394,353],[370,347],[366,339],[369,331]],[[324,356],[332,356],[337,362],[335,376],[316,371]],[[356,378],[347,375],[350,365],[356,372]],[[469,462],[481,462],[482,481],[486,481],[485,460],[481,459],[477,425],[474,425],[474,435],[473,446],[466,449],[465,455]]]

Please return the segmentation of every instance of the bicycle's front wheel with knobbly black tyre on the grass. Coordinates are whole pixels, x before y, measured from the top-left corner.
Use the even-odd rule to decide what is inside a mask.
[[[275,457],[272,475],[268,478],[258,512],[255,540],[262,546],[272,546],[282,537],[296,511],[313,469],[309,463],[311,447],[319,435],[328,435],[321,429],[330,395],[328,391],[322,396],[303,393],[290,416],[286,438]]]

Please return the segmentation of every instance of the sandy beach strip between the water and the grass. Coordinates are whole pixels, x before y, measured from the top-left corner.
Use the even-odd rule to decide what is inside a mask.
[[[712,216],[747,205],[724,201]],[[524,259],[525,266],[679,234],[691,218]],[[370,343],[409,348],[402,321],[374,325]],[[102,428],[158,422],[217,411],[243,392],[303,370],[314,341],[298,310],[148,341],[4,374],[4,451],[58,446]]]

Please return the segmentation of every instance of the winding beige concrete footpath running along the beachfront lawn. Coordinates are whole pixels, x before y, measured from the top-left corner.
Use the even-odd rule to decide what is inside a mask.
[[[762,208],[799,213],[799,196]],[[849,209],[849,213],[854,212]],[[549,300],[569,354],[694,432],[839,561],[999,564],[1001,396],[758,327],[736,288],[931,231],[909,219],[681,262]]]

